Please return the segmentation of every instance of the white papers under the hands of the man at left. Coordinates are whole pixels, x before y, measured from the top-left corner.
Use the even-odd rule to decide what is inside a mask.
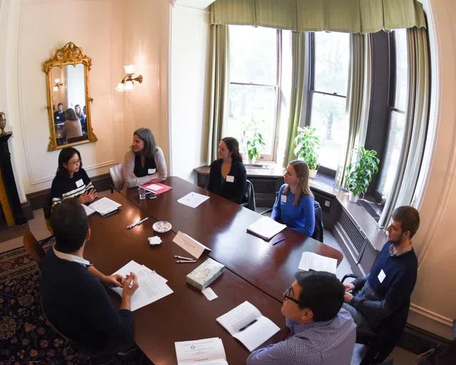
[[[131,310],[135,311],[147,304],[156,302],[167,295],[173,293],[172,289],[167,286],[167,280],[161,277],[155,271],[138,264],[138,262],[130,261],[124,267],[118,269],[114,274],[120,274],[126,277],[130,272],[134,272],[138,277],[139,287],[131,297]],[[123,288],[111,288],[122,297]]]

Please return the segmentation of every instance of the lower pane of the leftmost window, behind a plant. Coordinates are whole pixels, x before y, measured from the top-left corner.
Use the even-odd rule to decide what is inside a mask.
[[[227,135],[242,143],[244,122],[254,118],[259,124],[266,146],[261,154],[272,153],[276,90],[272,86],[229,86],[229,114]],[[264,122],[262,122],[264,121]]]

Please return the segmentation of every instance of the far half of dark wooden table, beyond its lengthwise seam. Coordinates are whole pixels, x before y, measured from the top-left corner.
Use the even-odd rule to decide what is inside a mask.
[[[207,253],[209,257],[278,301],[294,282],[302,252],[333,257],[338,264],[343,259],[338,250],[290,228],[272,239],[286,238],[273,246],[271,242],[247,233],[247,226],[261,217],[258,213],[181,178],[170,177],[164,183],[172,190],[157,195],[156,199],[140,200],[137,188],[123,190],[123,194],[156,220],[170,222],[172,232],[186,233],[209,247],[212,250]],[[189,192],[210,198],[195,209],[177,202]]]

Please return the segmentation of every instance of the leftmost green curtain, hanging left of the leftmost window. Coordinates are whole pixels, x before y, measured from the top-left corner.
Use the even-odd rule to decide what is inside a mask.
[[[229,108],[229,30],[226,25],[211,26],[211,100],[207,165],[217,160]]]

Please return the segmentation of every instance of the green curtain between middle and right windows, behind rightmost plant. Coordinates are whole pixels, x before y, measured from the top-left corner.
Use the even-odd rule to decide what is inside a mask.
[[[336,170],[335,185],[345,184],[345,170],[351,163],[351,150],[360,145],[359,136],[363,116],[363,91],[366,62],[365,38],[362,34],[351,34],[350,38],[350,68],[348,71],[348,95],[346,103],[346,118],[348,118],[348,133],[346,133],[346,150],[339,157]]]

